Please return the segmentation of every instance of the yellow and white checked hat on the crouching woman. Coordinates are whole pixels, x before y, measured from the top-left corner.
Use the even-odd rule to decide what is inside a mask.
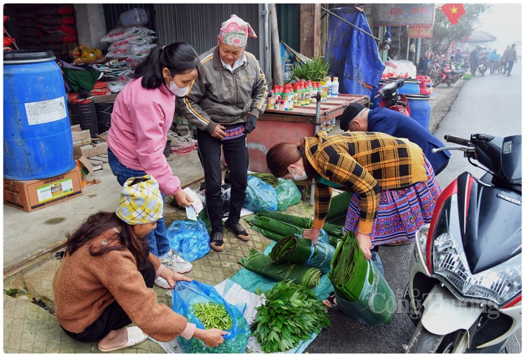
[[[116,214],[130,225],[141,225],[160,220],[163,209],[157,180],[145,175],[132,177],[124,183]]]

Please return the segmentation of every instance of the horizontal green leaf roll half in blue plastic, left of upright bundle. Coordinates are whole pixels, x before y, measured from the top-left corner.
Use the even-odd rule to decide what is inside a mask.
[[[314,246],[310,239],[293,235],[278,241],[269,257],[274,262],[295,262],[307,267],[318,267],[321,272],[326,273],[330,271],[334,253],[335,248],[324,241],[317,241]]]

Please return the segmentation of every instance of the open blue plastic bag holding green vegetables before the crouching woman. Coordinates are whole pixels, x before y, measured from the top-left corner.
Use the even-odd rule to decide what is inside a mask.
[[[200,302],[216,302],[224,305],[233,320],[232,328],[228,334],[223,335],[225,341],[218,347],[207,347],[200,339],[192,337],[185,339],[177,337],[177,341],[185,353],[245,353],[248,346],[251,330],[248,321],[244,318],[246,304],[241,307],[242,311],[232,304],[228,304],[223,297],[211,285],[199,283],[198,281],[179,281],[175,284],[173,291],[172,309],[177,314],[188,318],[188,322],[195,323],[197,328],[204,329],[204,324],[191,313],[193,304]]]

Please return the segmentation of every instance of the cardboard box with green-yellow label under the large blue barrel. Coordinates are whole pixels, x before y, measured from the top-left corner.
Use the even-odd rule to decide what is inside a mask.
[[[76,166],[50,179],[15,181],[3,179],[3,204],[31,212],[82,195],[82,178]]]

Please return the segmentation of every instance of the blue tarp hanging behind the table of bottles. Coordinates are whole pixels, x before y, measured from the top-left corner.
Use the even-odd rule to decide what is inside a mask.
[[[372,34],[363,11],[354,7],[335,8],[330,11]],[[328,16],[328,74],[339,78],[339,93],[372,97],[372,94],[377,92],[385,68],[379,57],[377,43],[371,36],[334,15]]]

